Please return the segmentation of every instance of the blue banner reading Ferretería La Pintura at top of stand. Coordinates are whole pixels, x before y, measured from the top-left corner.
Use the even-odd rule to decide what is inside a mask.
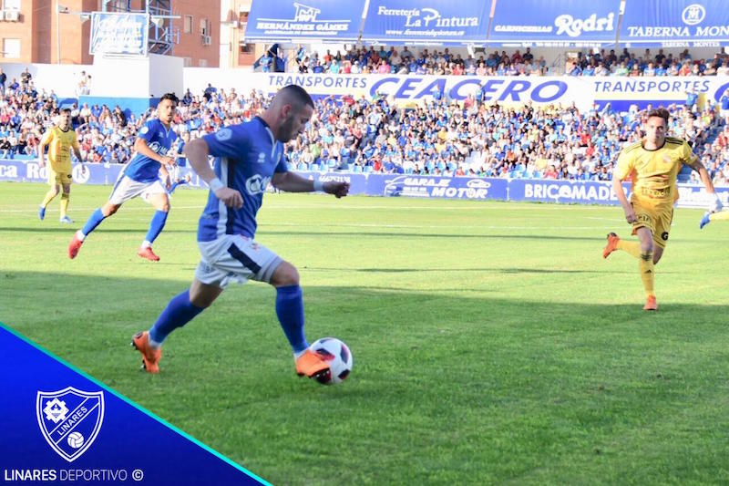
[[[363,42],[388,45],[486,42],[489,3],[479,0],[372,0]]]

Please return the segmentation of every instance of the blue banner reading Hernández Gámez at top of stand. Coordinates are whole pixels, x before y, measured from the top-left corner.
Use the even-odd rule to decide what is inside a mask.
[[[251,5],[247,42],[292,42],[320,40],[356,41],[362,23],[364,0],[256,1]]]

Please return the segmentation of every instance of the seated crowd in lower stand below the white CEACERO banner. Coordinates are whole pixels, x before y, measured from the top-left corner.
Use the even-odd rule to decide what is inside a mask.
[[[438,97],[436,97],[438,98]],[[469,96],[440,97],[419,107],[393,99],[319,98],[305,133],[288,144],[297,171],[353,171],[467,177],[611,179],[618,150],[639,140],[646,110],[625,113],[597,106],[508,107]],[[699,103],[669,107],[669,132],[693,142],[717,185],[729,178],[729,97],[726,107]],[[180,98],[175,129],[183,141],[221,126],[251,119],[266,105],[257,92],[209,86]],[[649,107],[650,108],[650,107]],[[13,81],[0,98],[0,158],[36,158],[36,147],[59,109],[53,92],[34,88],[32,78]],[[127,117],[118,107],[72,107],[81,153],[87,162],[130,160],[137,130],[148,112]],[[686,176],[689,177],[689,176]]]

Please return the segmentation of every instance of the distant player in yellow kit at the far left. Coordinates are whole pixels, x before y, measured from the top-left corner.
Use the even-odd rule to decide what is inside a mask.
[[[58,124],[46,131],[38,146],[38,164],[41,168],[46,166],[44,152],[48,147],[48,184],[51,188],[46,192],[46,197],[40,203],[38,218],[43,220],[46,217],[48,203],[58,195],[58,187],[63,189],[61,193],[61,222],[73,222],[68,217],[68,201],[71,193],[71,150],[76,152],[78,160],[81,160],[81,151],[78,150],[76,131],[71,127],[71,110],[62,109],[59,115]]]

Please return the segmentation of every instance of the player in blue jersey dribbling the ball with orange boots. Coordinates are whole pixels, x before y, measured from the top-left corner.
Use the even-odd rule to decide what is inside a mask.
[[[310,181],[288,171],[283,143],[303,133],[313,101],[298,86],[282,88],[271,105],[251,121],[220,129],[186,145],[192,169],[210,185],[198,225],[202,258],[188,290],[175,296],[149,331],[132,337],[149,373],[159,372],[161,345],[221,295],[231,282],[258,280],[276,288],[276,315],[293,348],[296,373],[319,377],[329,365],[309,349],[303,334],[303,296],[299,273],[276,253],[256,243],[256,213],[269,182],[282,191],[324,191],[341,198],[349,183]],[[214,169],[208,156],[216,157]]]

